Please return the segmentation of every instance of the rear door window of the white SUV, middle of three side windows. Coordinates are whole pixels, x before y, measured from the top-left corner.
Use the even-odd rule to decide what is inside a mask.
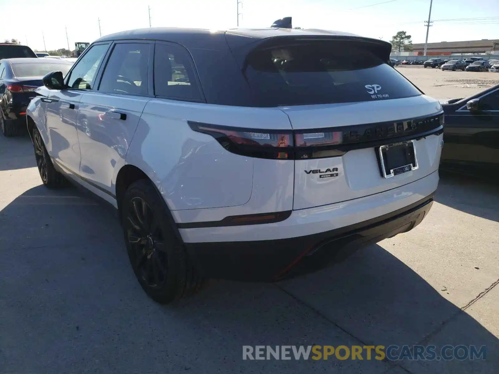
[[[102,74],[99,91],[148,94],[149,43],[119,43]]]

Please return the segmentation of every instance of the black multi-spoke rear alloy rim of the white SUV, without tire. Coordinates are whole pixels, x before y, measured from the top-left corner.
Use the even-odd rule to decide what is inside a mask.
[[[135,271],[147,287],[160,288],[167,279],[165,236],[149,204],[134,197],[127,212],[127,239]]]

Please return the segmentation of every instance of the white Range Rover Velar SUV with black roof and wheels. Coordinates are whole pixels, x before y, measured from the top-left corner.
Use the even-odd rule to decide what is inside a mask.
[[[101,37],[26,111],[42,182],[117,209],[158,302],[338,260],[418,225],[439,181],[442,107],[390,50],[286,28]]]

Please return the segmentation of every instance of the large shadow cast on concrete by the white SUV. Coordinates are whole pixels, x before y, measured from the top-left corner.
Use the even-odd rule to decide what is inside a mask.
[[[0,210],[2,371],[398,374],[374,355],[243,361],[242,347],[419,343],[485,345],[487,361],[399,363],[411,373],[497,373],[498,339],[378,245],[317,273],[212,281],[161,306],[136,281],[122,235],[76,188],[34,187]]]

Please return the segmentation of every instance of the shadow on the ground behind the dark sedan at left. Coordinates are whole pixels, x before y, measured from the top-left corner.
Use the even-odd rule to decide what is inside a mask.
[[[0,134],[0,171],[36,167],[33,145],[26,132],[13,138]]]

